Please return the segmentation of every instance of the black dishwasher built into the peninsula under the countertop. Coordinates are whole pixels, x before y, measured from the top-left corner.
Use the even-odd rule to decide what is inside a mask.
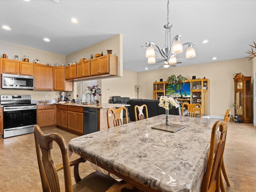
[[[84,107],[84,135],[98,131],[98,109]]]

